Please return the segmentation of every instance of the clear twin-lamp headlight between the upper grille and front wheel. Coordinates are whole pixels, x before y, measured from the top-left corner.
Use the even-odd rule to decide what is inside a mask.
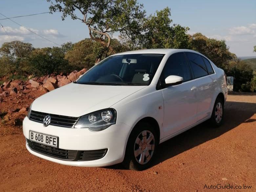
[[[89,113],[79,118],[75,128],[89,128],[93,131],[101,131],[110,125],[116,124],[117,111],[115,109],[103,109]]]

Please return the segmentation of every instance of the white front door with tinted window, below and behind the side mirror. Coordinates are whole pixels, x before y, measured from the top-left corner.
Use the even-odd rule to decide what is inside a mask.
[[[169,75],[181,76],[183,82],[162,89],[164,137],[195,123],[197,113],[197,85],[191,80],[192,74],[184,53],[174,53],[169,57],[160,77],[161,85],[165,84],[164,79]]]

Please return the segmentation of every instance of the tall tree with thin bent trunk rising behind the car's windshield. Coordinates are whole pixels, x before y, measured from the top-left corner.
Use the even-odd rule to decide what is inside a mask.
[[[137,0],[55,0],[49,10],[51,13],[62,12],[62,20],[70,15],[87,25],[91,39],[104,47],[98,54],[97,63],[115,51],[111,46],[111,36],[115,32],[131,40],[141,32],[141,21],[145,16],[142,8]]]

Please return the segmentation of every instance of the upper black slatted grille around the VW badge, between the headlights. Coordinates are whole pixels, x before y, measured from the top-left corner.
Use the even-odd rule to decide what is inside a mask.
[[[60,126],[60,127],[72,128],[75,126],[75,123],[79,119],[79,117],[69,117],[69,116],[54,115],[54,114],[49,114],[49,113],[31,111],[30,120],[43,123],[43,119],[47,115],[51,116],[50,125],[55,125],[55,126]]]

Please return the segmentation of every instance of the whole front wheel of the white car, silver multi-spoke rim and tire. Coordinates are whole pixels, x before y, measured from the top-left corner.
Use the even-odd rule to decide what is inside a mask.
[[[141,122],[136,125],[128,139],[123,164],[132,170],[144,170],[150,167],[159,143],[154,127]]]

